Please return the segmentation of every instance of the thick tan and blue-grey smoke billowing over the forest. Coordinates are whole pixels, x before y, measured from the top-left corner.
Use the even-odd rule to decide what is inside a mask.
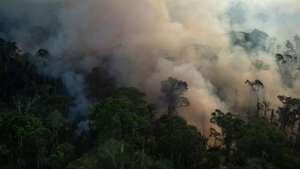
[[[277,106],[278,95],[299,94],[299,81],[292,88],[282,83],[274,55],[246,52],[226,36],[256,28],[277,37],[282,52],[285,40],[299,33],[299,7],[298,0],[2,0],[0,36],[24,51],[45,48],[52,54],[51,66],[43,71],[63,78],[76,97],[74,116],[85,114],[89,105],[83,76],[108,56],[117,84],[140,88],[161,113],[166,105],[158,100],[160,81],[169,76],[187,81],[191,106],[178,112],[189,123],[205,125],[207,134],[210,124],[200,116],[208,121],[214,109],[221,109],[246,118],[247,106],[255,108],[244,82],[256,79],[250,69],[256,59],[271,66],[258,75],[266,100]],[[233,109],[234,104],[240,109]]]

